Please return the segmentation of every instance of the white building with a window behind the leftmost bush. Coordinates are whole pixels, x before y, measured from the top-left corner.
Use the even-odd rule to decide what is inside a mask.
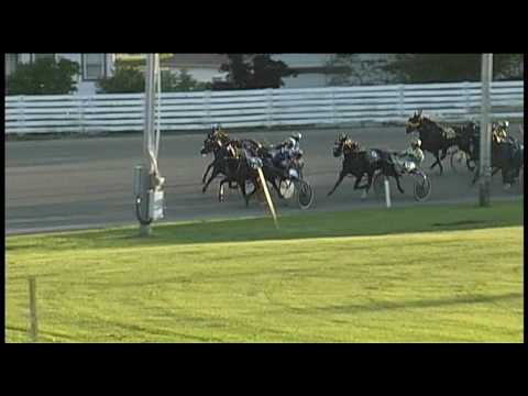
[[[112,76],[116,54],[6,54],[6,76],[21,63],[32,63],[42,57],[64,58],[77,62],[80,74],[77,76],[77,95],[97,94],[97,81]]]

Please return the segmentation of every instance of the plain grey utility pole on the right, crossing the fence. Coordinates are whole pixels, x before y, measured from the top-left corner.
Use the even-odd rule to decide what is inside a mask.
[[[481,153],[479,205],[490,206],[492,182],[492,124],[490,123],[490,88],[493,79],[493,54],[482,54],[482,109],[481,109]]]

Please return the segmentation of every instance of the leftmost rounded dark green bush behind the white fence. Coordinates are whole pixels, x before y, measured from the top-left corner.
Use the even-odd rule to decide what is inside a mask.
[[[79,64],[68,59],[36,59],[20,64],[7,78],[8,95],[67,95],[77,90]]]

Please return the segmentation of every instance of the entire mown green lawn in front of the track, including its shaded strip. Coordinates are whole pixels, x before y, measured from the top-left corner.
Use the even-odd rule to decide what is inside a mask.
[[[41,341],[521,342],[521,205],[8,238],[7,341],[36,274]]]

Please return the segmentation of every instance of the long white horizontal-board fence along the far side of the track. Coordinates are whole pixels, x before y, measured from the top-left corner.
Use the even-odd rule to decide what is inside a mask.
[[[524,118],[524,81],[492,84],[493,118]],[[405,122],[417,109],[442,121],[475,119],[481,84],[427,84],[162,94],[163,131],[223,127]],[[6,97],[6,133],[143,129],[143,94]]]

